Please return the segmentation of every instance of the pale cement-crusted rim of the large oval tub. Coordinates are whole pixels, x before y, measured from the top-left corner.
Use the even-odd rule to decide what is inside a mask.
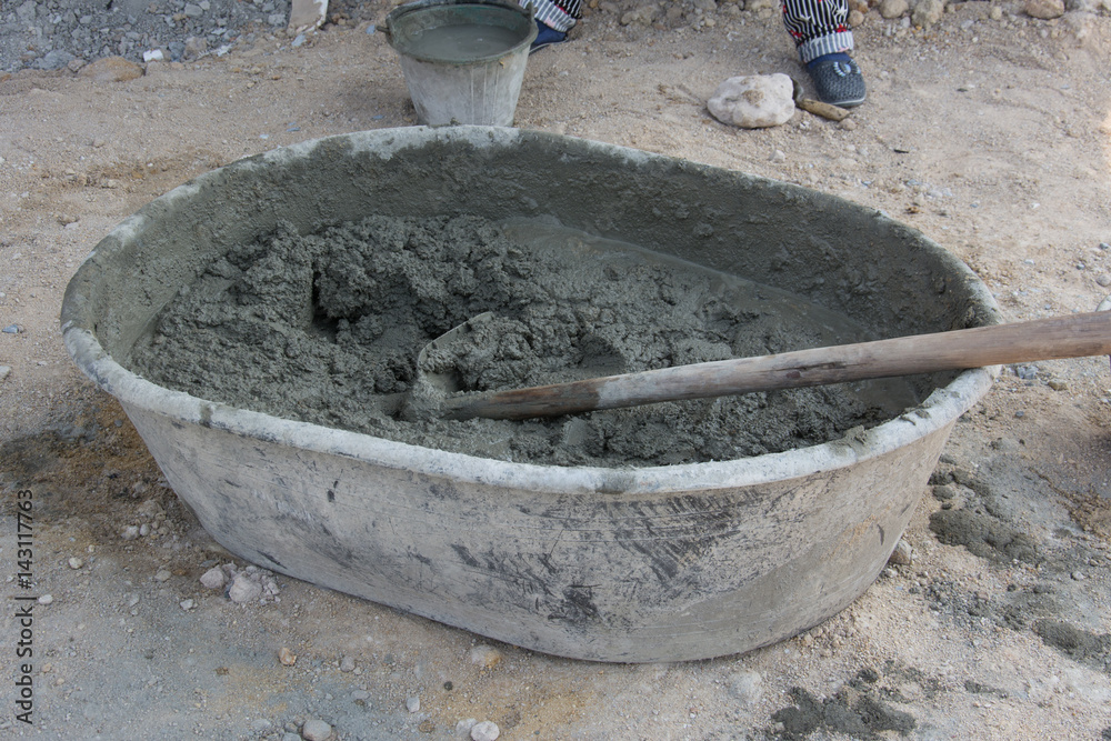
[[[461,140],[477,146],[503,146],[516,142],[526,133],[529,136],[559,136],[481,126],[379,129],[308,140],[291,147],[237,160],[222,168],[202,173],[143,206],[112,229],[86,258],[71,278],[62,303],[61,329],[66,349],[81,371],[99,388],[116,397],[129,414],[134,410],[141,410],[146,413],[169,417],[183,423],[224,430],[270,443],[293,445],[300,450],[346,457],[373,465],[410,470],[434,478],[450,477],[457,481],[482,485],[509,487],[549,493],[670,494],[692,490],[710,491],[763,484],[847,468],[860,461],[890,453],[918,439],[948,428],[989,391],[998,375],[999,366],[963,371],[947,385],[935,389],[922,403],[907,409],[898,417],[868,430],[854,428],[840,439],[818,445],[705,463],[640,468],[560,467],[510,462],[423,448],[377,438],[363,432],[278,418],[167,389],[123,368],[104,350],[96,334],[79,323],[79,318],[87,319],[86,312],[81,310],[81,306],[88,304],[87,287],[94,284],[102,272],[99,261],[94,260],[97,254],[104,250],[126,249],[132,240],[141,236],[153,212],[160,211],[162,207],[173,201],[189,198],[190,194],[200,189],[206,180],[219,178],[220,173],[229,168],[256,168],[287,163],[309,157],[321,143],[334,140],[344,141],[352,147],[353,151],[370,151],[383,159],[389,159],[400,149],[413,143]],[[573,137],[564,138],[575,139]],[[583,139],[579,141],[589,143],[600,153],[631,161],[674,161],[678,159],[605,142]],[[741,174],[754,182],[802,188],[761,176]],[[859,203],[845,202],[855,209],[872,210]],[[874,217],[904,230],[910,230],[923,246],[948,257],[954,269],[963,270],[969,277],[974,278],[967,284],[970,298],[992,309],[992,318],[998,318],[998,308],[990,292],[964,262],[918,230],[895,222],[879,211],[874,211]]]

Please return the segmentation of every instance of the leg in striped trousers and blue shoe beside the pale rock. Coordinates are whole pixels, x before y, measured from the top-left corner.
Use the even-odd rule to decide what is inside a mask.
[[[781,0],[783,26],[818,97],[845,108],[864,102],[864,78],[852,60],[848,0]]]

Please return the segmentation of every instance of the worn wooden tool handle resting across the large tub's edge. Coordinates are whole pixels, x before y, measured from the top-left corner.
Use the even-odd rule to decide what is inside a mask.
[[[1111,311],[449,398],[446,419],[530,419],[661,401],[1111,353]]]

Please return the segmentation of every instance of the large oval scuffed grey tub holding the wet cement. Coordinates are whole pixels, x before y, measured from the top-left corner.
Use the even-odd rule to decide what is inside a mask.
[[[514,129],[371,131],[268,152],[171,191],[97,246],[66,294],[66,346],[216,540],[268,569],[538,651],[701,659],[837,613],[883,568],[954,421],[992,381],[991,370],[918,379],[921,405],[812,448],[602,469],[276,419],[117,362],[229,246],[281,219],[307,232],[370,213],[552,214],[790,289],[880,337],[995,323],[994,304],[961,262],[873,210]]]

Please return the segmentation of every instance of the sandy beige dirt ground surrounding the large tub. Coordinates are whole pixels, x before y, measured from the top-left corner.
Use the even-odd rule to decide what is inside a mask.
[[[721,81],[804,82],[770,8],[677,2],[687,14],[644,23],[651,3],[589,4],[570,43],[531,58],[518,126],[883,210],[967,261],[1010,321],[1108,294],[1105,11],[964,2],[918,29],[873,9],[855,30],[864,106],[748,131],[708,113]],[[0,73],[0,733],[284,741],[326,738],[323,722],[334,739],[451,739],[473,719],[502,739],[1111,738],[1105,358],[1003,369],[957,424],[900,562],[741,657],[540,655],[271,574],[203,532],[68,358],[62,292],[107,232],[196,174],[413,124],[396,54],[368,33],[390,7],[121,81],[80,63]],[[201,583],[224,564],[253,599]]]

